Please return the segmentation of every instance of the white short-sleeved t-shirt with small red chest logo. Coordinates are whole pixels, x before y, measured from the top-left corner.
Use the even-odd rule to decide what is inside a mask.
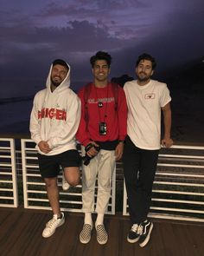
[[[140,86],[137,80],[124,84],[128,105],[127,134],[143,149],[161,148],[161,108],[171,101],[163,82],[150,80]]]

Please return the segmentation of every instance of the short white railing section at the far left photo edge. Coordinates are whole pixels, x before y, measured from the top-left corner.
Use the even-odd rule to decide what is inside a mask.
[[[0,138],[0,207],[17,207],[15,141]]]

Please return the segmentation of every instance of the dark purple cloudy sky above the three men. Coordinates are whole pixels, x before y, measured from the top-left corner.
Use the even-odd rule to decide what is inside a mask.
[[[44,87],[50,63],[63,58],[75,88],[92,80],[89,58],[112,54],[112,76],[134,75],[149,52],[158,70],[204,56],[203,0],[0,0],[0,98]],[[80,84],[81,82],[81,84]]]

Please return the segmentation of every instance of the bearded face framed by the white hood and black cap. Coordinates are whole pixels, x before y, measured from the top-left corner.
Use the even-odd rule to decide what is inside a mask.
[[[67,69],[66,67],[56,64],[54,65],[52,72],[51,72],[51,82],[55,87],[58,87],[61,82],[65,79],[67,76]]]

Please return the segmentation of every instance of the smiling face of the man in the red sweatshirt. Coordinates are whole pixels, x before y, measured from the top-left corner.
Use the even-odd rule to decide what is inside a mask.
[[[92,74],[94,79],[99,82],[106,81],[110,73],[110,68],[105,60],[98,60],[94,63],[92,68]]]

